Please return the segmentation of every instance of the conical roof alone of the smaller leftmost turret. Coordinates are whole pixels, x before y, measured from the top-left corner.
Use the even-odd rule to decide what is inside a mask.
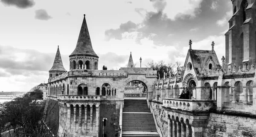
[[[49,71],[66,71],[65,68],[63,67],[59,48],[57,49],[52,68]]]

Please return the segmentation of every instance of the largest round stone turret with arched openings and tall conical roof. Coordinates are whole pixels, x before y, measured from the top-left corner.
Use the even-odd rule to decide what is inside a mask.
[[[93,50],[87,23],[85,20],[85,14],[76,48],[69,57],[70,70],[98,70],[99,56],[97,56]]]

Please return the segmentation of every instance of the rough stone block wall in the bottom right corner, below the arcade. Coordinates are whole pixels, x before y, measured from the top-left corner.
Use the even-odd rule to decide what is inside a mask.
[[[256,118],[210,113],[204,137],[256,137]]]

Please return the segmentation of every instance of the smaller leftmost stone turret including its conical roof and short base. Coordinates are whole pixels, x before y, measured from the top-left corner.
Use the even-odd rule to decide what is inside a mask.
[[[62,59],[61,59],[60,49],[58,47],[52,68],[49,70],[49,77],[52,78],[52,76],[53,77],[58,76],[61,73],[64,73],[65,71],[66,70],[63,67],[63,63],[62,63]]]

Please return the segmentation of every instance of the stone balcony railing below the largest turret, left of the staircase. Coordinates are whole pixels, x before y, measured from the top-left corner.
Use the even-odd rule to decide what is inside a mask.
[[[101,101],[102,95],[57,95],[61,101]]]

